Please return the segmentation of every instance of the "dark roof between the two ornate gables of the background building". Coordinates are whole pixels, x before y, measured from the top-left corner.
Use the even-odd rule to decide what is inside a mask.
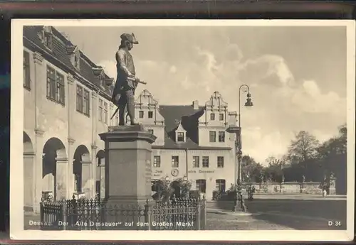
[[[225,149],[229,147],[204,147],[199,146],[199,117],[204,114],[205,107],[194,109],[192,105],[175,106],[160,105],[159,114],[164,117],[164,146],[152,146],[152,148],[170,148],[170,149]],[[185,142],[175,142],[175,130],[179,126],[187,131]]]

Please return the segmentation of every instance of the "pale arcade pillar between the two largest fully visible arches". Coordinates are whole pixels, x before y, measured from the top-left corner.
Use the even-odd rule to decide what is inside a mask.
[[[68,158],[56,158],[56,200],[66,199]]]

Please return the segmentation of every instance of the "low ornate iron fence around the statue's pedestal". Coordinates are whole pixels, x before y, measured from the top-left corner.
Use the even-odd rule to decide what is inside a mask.
[[[205,223],[204,199],[173,198],[145,205],[110,205],[74,197],[41,202],[41,229],[47,230],[199,230]]]

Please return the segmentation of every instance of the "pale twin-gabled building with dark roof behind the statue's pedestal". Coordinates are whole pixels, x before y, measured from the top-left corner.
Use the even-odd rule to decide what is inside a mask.
[[[136,116],[157,139],[152,144],[152,180],[187,177],[193,190],[211,200],[214,190],[228,190],[234,183],[234,134],[236,124],[219,92],[202,106],[159,105],[147,90],[136,100]]]

